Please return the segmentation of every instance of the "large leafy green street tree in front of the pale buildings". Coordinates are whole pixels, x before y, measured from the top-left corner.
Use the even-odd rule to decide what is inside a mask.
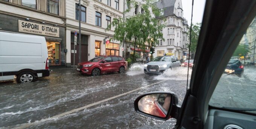
[[[129,41],[136,48],[137,45],[142,50],[145,50],[146,43],[151,43],[152,46],[155,46],[159,40],[163,40],[162,29],[165,27],[165,24],[161,24],[160,20],[163,20],[162,11],[156,7],[156,0],[143,0],[138,2],[136,0],[127,0],[128,9],[124,13],[129,13],[131,8],[142,8],[143,13],[137,11],[133,12],[132,16],[126,16],[124,21],[123,18],[113,19],[111,25],[106,29],[112,26],[115,28],[114,36],[111,40],[117,40],[121,43],[124,41]],[[154,42],[151,42],[154,41]],[[134,52],[135,53],[135,49]],[[135,62],[135,57],[133,61]]]

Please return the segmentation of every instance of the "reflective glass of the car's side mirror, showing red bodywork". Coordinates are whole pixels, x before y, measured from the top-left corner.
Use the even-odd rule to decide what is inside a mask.
[[[146,95],[138,102],[139,110],[143,113],[165,118],[171,106],[171,95],[158,93]]]

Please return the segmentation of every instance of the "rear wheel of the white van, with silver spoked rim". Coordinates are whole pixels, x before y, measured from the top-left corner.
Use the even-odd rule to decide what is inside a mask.
[[[29,83],[35,80],[35,74],[31,72],[20,73],[17,77],[18,83]]]

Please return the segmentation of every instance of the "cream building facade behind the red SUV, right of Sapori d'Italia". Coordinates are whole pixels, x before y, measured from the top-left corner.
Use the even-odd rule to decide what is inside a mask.
[[[118,1],[118,3],[116,3],[116,1]],[[66,0],[67,64],[71,64],[73,62],[71,57],[73,56],[71,53],[71,49],[73,49],[72,33],[79,31],[78,10],[76,9],[78,2],[79,0]],[[119,8],[117,9],[115,6],[116,4],[119,5]],[[107,28],[107,24],[112,22],[114,18],[120,18],[123,16],[123,0],[110,0],[109,5],[107,0],[81,0],[81,6],[83,7],[83,12],[81,13],[83,16],[81,18],[81,34],[87,38],[86,41],[84,41],[85,47],[81,51],[85,52],[87,45],[87,59],[90,60],[95,57],[95,54],[107,54],[106,44],[103,44],[103,39],[106,36],[113,36],[114,27],[112,27],[110,31],[105,31],[105,29]],[[110,21],[107,21],[107,19],[110,19]],[[98,45],[98,43],[100,43],[100,45]],[[112,43],[119,44],[117,41]],[[116,47],[111,49],[116,49]],[[113,51],[117,55],[117,50]],[[118,52],[118,55],[122,56],[120,46]],[[78,56],[78,53],[75,56]]]

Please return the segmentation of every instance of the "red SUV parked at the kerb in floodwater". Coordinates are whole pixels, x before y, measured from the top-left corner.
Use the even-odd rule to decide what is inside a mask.
[[[79,63],[76,68],[76,71],[81,74],[91,74],[92,76],[99,76],[99,74],[111,72],[124,73],[125,70],[125,60],[122,56],[114,55],[97,56],[90,61]]]

